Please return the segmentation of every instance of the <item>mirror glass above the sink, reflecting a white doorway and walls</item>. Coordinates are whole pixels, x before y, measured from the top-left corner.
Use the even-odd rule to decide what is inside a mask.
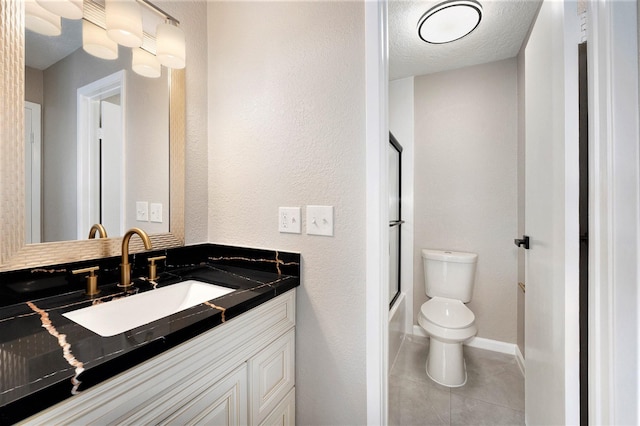
[[[169,76],[131,71],[132,50],[82,49],[82,20],[25,31],[25,243],[169,232]]]

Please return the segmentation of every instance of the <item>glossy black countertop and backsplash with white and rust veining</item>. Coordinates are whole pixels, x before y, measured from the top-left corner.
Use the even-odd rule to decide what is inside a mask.
[[[133,277],[146,276],[147,258],[159,254],[167,256],[159,278],[137,278],[126,293],[117,286],[119,258],[0,274],[0,424],[70,398],[300,284],[299,254],[214,244],[138,254]],[[71,274],[87,263],[102,271],[94,297]],[[62,316],[187,279],[235,291],[112,337]]]

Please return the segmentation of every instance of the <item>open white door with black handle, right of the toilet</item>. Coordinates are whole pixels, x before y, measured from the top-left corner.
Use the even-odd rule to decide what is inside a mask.
[[[525,48],[525,409],[579,424],[578,40],[575,2],[546,0]]]

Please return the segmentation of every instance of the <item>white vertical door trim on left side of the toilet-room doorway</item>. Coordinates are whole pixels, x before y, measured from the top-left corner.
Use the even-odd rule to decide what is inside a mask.
[[[364,2],[367,424],[388,423],[389,53],[387,0]]]

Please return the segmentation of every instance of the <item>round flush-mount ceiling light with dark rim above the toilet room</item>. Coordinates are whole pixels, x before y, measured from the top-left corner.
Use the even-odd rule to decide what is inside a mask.
[[[418,21],[418,35],[427,43],[449,43],[475,30],[481,19],[480,3],[473,0],[446,1],[422,15]]]

